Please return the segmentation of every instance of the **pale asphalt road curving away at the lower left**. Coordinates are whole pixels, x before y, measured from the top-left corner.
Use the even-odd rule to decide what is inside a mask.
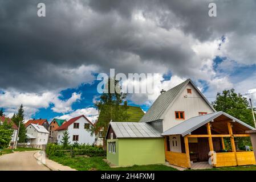
[[[49,171],[34,158],[37,151],[15,152],[0,156],[0,171]]]

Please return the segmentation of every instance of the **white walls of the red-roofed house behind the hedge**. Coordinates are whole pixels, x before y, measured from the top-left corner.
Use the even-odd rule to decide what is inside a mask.
[[[74,129],[74,123],[79,123],[79,129]],[[67,129],[70,136],[69,142],[71,144],[75,143],[75,141],[73,141],[73,135],[79,135],[79,138],[78,138],[79,144],[84,144],[84,143],[94,144],[95,135],[91,137],[90,131],[87,131],[86,129],[84,129],[84,123],[89,123],[89,122],[84,117],[81,117],[78,120],[76,120],[74,123],[68,126],[68,129]],[[65,130],[58,131],[58,137],[57,137],[58,143],[60,143],[60,141],[62,140],[64,131]]]

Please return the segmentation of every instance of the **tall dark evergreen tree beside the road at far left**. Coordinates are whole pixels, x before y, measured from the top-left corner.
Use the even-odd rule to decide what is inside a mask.
[[[25,116],[25,113],[24,113],[23,105],[21,105],[19,106],[18,113],[14,114],[12,118],[15,125],[19,126],[19,123],[21,123],[21,125],[19,126],[19,135],[18,135],[19,142],[25,142],[25,139],[26,139],[27,130],[24,124],[24,116]]]

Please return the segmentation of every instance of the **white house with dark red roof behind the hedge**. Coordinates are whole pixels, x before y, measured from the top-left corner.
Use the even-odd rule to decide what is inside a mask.
[[[95,144],[95,135],[91,136],[88,128],[94,126],[84,115],[75,117],[64,123],[56,131],[58,131],[58,143],[61,143],[63,133],[68,131],[69,142],[71,144]]]

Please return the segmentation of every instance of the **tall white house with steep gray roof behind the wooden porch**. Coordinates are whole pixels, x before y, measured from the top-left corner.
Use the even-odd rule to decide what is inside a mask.
[[[147,122],[163,133],[189,118],[215,111],[197,86],[188,79],[167,92],[162,90],[140,122]],[[173,135],[169,142],[171,151],[181,152],[180,135]]]

